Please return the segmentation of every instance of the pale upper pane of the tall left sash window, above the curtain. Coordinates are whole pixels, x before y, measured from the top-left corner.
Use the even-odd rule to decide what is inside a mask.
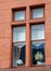
[[[25,26],[13,28],[13,42],[25,42],[26,40],[26,28]]]

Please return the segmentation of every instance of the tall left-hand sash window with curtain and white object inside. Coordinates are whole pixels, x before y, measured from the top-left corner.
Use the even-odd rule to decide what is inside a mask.
[[[13,27],[13,67],[25,64],[26,28]]]

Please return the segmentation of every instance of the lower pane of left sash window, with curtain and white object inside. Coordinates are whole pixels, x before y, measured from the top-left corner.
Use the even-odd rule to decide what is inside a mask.
[[[13,45],[13,67],[25,64],[25,43]]]

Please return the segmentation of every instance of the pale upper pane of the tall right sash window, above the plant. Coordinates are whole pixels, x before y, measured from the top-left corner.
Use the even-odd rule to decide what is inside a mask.
[[[31,40],[44,39],[44,25],[31,25]]]

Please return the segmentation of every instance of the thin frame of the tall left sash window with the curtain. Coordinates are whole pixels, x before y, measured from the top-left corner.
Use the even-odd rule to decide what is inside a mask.
[[[14,27],[23,27],[23,26],[26,27],[26,25],[15,25],[15,26],[13,26],[12,27],[12,35],[13,35],[13,28]],[[21,40],[21,42],[13,42],[13,37],[12,37],[12,47],[13,47],[14,44],[24,44],[24,43],[26,45],[26,40],[24,40],[24,42],[23,40]],[[13,50],[13,48],[12,48],[12,50]],[[25,58],[26,58],[26,54],[25,54]],[[13,67],[13,51],[12,51],[12,67]],[[23,66],[17,66],[17,67],[25,67],[25,63]],[[13,68],[17,68],[17,67],[13,67]]]

